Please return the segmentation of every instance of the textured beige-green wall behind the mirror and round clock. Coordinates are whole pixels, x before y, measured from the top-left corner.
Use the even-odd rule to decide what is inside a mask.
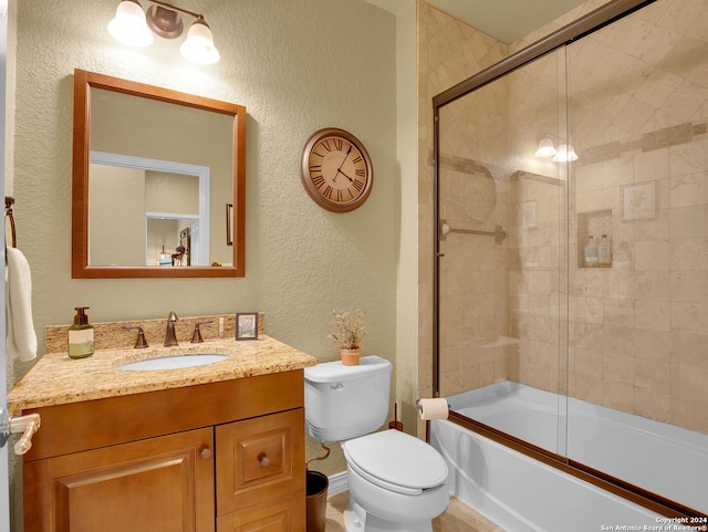
[[[354,306],[367,311],[365,354],[395,359],[400,202],[394,15],[350,0],[196,0],[189,8],[204,12],[214,31],[217,65],[188,64],[179,42],[124,48],[105,29],[114,2],[11,2],[17,45],[10,46],[10,65],[17,70],[9,77],[17,81],[10,91],[17,97],[8,109],[14,123],[8,190],[17,198],[19,247],[32,268],[40,336],[46,325],[69,323],[76,305],[90,306],[93,321],[258,310],[269,334],[326,361],[336,356],[326,338],[332,309]],[[244,279],[71,279],[75,67],[247,107]],[[356,135],[373,159],[372,195],[350,213],[323,210],[300,182],[302,146],[327,126]],[[10,384],[27,369],[11,364]],[[316,467],[344,469],[339,453]],[[13,471],[15,523],[19,481]]]

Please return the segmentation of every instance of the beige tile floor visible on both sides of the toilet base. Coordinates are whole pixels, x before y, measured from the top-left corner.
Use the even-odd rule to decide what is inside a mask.
[[[344,532],[342,514],[346,510],[348,492],[327,498],[325,532]],[[433,520],[433,532],[504,532],[456,497],[450,499],[447,511]]]

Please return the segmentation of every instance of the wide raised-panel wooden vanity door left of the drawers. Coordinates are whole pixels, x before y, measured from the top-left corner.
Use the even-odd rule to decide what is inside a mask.
[[[204,428],[27,462],[25,532],[214,532],[212,442]]]

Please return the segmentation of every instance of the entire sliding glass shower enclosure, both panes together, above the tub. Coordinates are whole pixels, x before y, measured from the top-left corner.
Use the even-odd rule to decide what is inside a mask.
[[[440,395],[702,514],[707,72],[708,7],[657,0],[437,109]]]

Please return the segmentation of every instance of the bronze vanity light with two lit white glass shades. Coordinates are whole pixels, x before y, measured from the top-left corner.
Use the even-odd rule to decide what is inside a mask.
[[[219,51],[214,45],[214,35],[204,15],[158,0],[148,1],[153,6],[146,13],[137,0],[122,0],[115,17],[108,22],[108,33],[124,44],[148,46],[153,43],[153,33],[164,39],[181,35],[181,15],[188,14],[196,20],[191,23],[179,51],[195,63],[214,64],[219,61]]]

